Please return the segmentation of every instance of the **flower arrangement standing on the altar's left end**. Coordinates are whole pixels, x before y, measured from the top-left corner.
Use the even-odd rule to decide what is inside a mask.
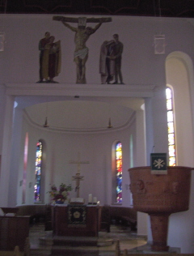
[[[48,193],[50,194],[50,197],[53,201],[57,203],[64,203],[68,195],[70,194],[68,191],[71,190],[71,185],[66,186],[64,183],[61,183],[61,185],[59,186],[59,190],[57,190],[57,186],[53,185],[51,186],[51,190],[48,191]]]

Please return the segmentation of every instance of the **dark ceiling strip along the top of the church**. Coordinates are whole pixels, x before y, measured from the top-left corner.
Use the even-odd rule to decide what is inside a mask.
[[[2,0],[1,13],[194,17],[194,0]]]

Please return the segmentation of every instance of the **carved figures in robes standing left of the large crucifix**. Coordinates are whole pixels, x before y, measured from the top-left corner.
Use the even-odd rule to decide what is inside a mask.
[[[37,83],[57,83],[53,79],[61,72],[61,41],[54,40],[54,36],[45,32],[39,42],[40,80]]]

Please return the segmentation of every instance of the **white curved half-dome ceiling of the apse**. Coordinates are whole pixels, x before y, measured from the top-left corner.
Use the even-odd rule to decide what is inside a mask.
[[[43,127],[48,117],[48,129],[69,131],[107,130],[109,118],[114,130],[123,128],[129,125],[134,111],[144,103],[141,98],[120,97],[95,97],[95,100],[90,97],[60,100],[57,97],[57,101],[49,101],[53,98],[48,97],[22,99],[16,99],[18,107],[25,110],[34,125]]]

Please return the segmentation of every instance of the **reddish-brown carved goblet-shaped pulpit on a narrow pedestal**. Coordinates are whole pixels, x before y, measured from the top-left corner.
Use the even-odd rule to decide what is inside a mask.
[[[192,168],[171,166],[167,174],[151,174],[150,166],[129,169],[133,207],[150,215],[153,251],[168,251],[168,217],[187,211]]]

